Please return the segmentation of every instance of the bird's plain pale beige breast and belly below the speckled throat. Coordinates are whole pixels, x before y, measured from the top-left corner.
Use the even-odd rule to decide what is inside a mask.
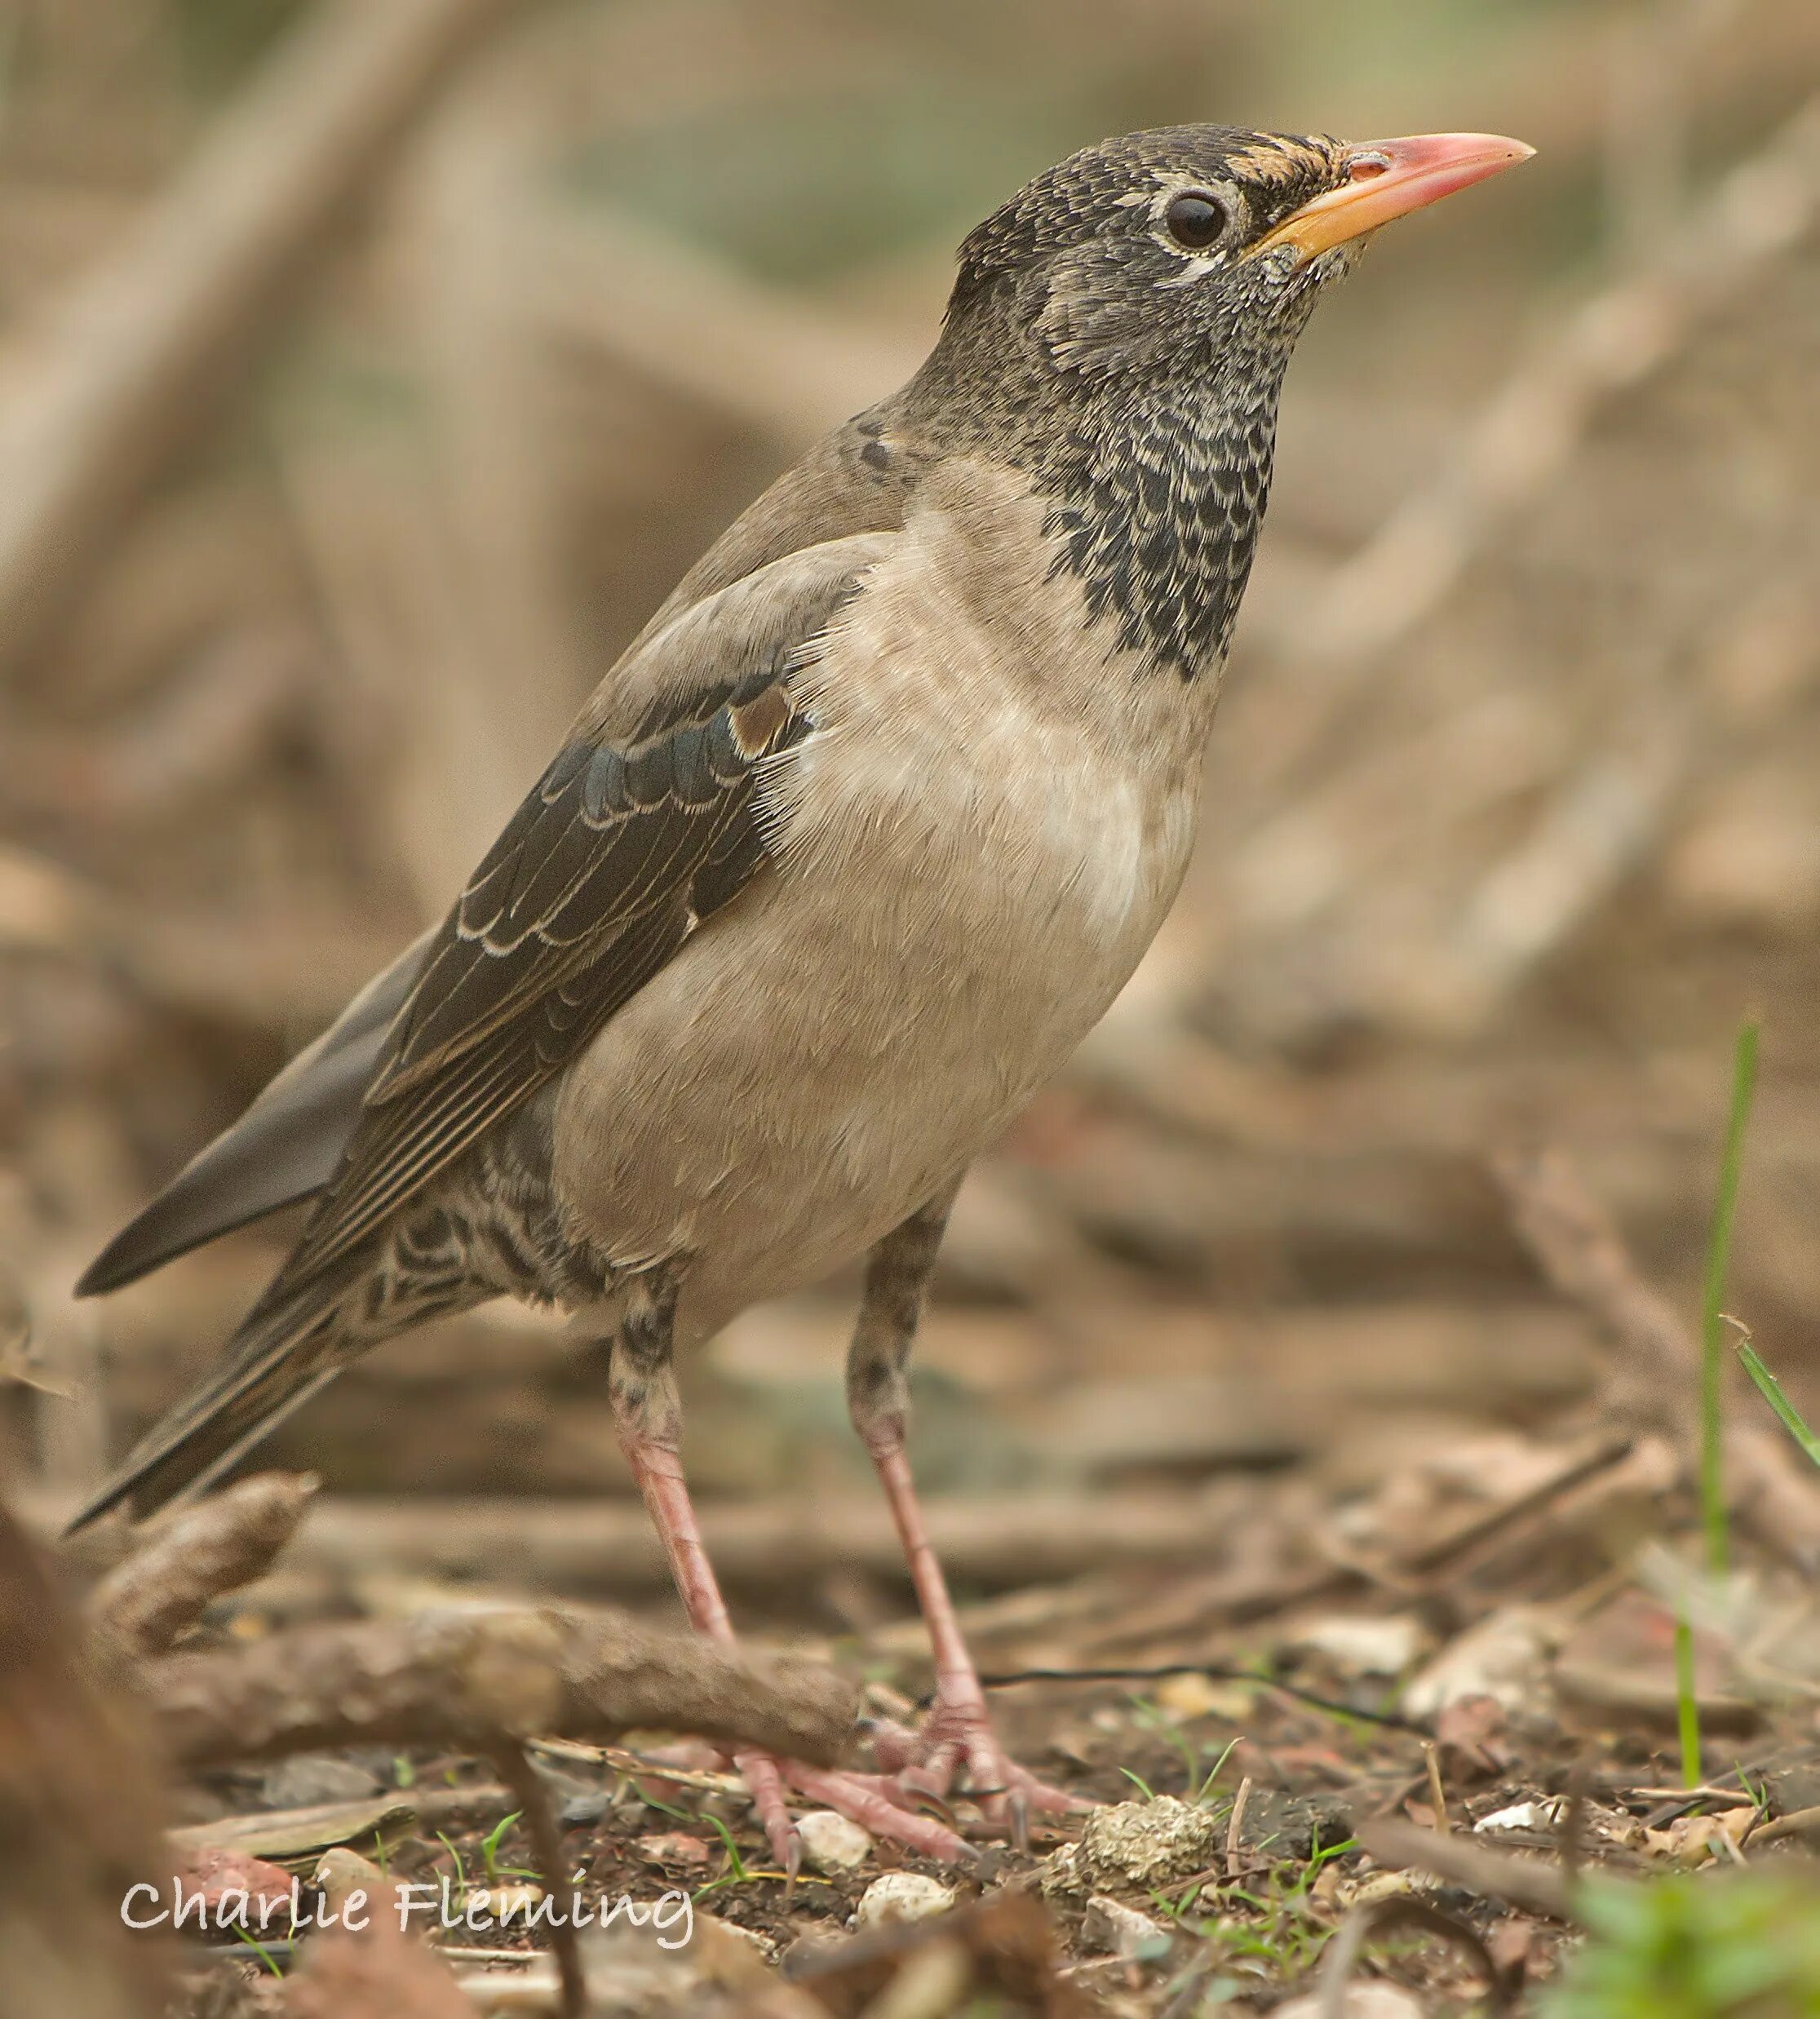
[[[1034,519],[1032,519],[1034,515]],[[1133,678],[980,474],[873,569],[770,781],[776,872],[574,1068],[558,1179],[683,1322],[812,1280],[968,1163],[1099,1020],[1194,832],[1204,701]]]

